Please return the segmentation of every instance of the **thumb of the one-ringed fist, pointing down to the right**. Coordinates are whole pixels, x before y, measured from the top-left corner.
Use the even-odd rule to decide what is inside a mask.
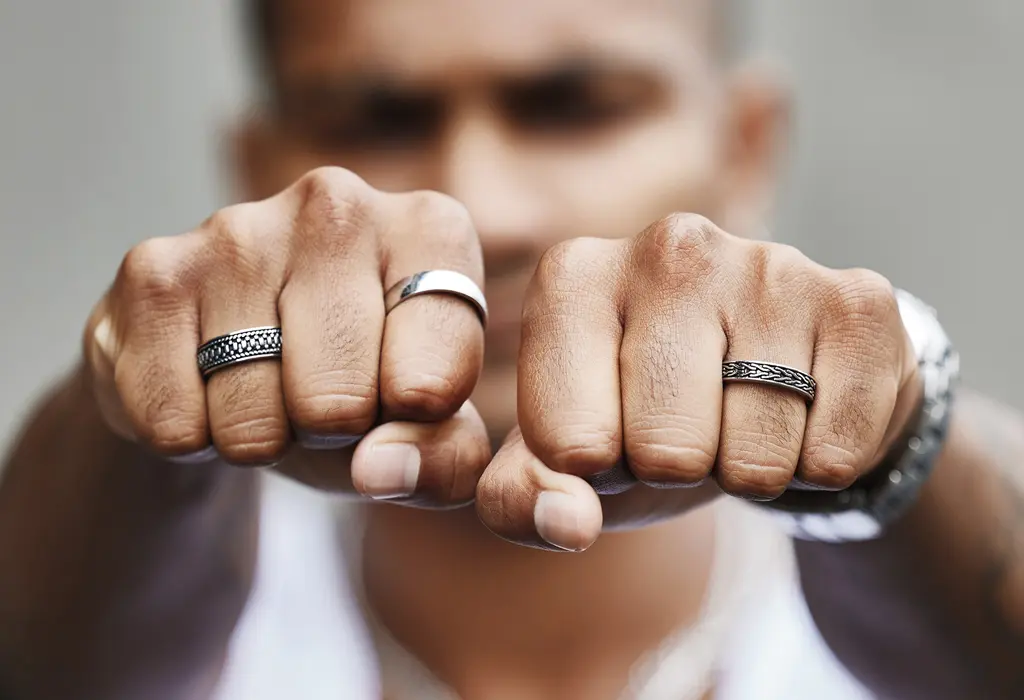
[[[582,552],[601,533],[601,501],[580,477],[548,469],[516,430],[476,488],[476,513],[499,537],[545,550]]]

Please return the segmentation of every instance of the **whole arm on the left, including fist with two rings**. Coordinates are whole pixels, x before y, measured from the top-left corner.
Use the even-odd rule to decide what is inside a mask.
[[[130,251],[87,324],[83,369],[0,487],[0,686],[32,700],[208,695],[255,560],[256,472],[224,463],[407,506],[471,501],[490,455],[467,400],[482,326],[451,298],[461,288],[389,314],[385,291],[423,269],[482,283],[465,210],[338,168]],[[282,357],[204,379],[203,341],[266,325],[288,338]],[[382,412],[395,420],[378,425]],[[197,454],[222,462],[178,464]]]

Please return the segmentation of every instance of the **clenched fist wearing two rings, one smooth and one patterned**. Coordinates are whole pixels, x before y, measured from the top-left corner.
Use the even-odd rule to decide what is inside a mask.
[[[319,488],[468,502],[490,457],[467,402],[483,358],[480,320],[450,295],[410,299],[385,318],[384,294],[430,269],[482,289],[482,268],[454,200],[315,170],[128,253],[85,332],[96,400],[116,433],[172,461],[279,465]],[[204,381],[203,342],[266,325],[282,329],[280,361]]]

